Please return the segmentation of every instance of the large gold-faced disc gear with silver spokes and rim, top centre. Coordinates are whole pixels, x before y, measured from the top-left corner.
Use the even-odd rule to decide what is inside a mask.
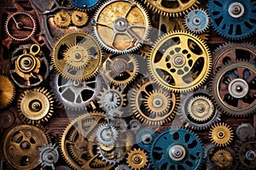
[[[102,4],[93,20],[96,39],[108,51],[131,53],[148,37],[146,10],[136,1],[114,0]]]

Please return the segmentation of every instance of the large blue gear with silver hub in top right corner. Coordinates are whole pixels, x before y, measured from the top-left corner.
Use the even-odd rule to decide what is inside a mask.
[[[210,0],[208,11],[213,28],[222,37],[241,40],[256,31],[256,2]]]

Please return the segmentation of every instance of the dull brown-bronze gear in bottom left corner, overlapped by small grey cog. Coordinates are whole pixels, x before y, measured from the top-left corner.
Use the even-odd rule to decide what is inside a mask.
[[[3,138],[3,155],[15,169],[34,169],[39,165],[38,148],[49,143],[49,135],[41,127],[17,125],[11,127]]]

